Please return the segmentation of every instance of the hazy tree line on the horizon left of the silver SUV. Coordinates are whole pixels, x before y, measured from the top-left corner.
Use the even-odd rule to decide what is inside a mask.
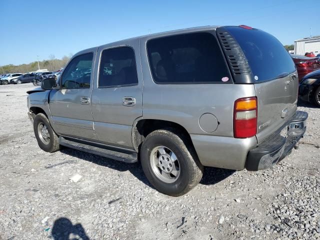
[[[69,56],[64,55],[61,59],[55,58],[53,54],[49,55],[49,58],[46,60],[39,61],[40,69],[48,69],[49,71],[56,71],[61,67],[64,67],[65,64],[68,62],[72,54],[70,53]],[[13,72],[29,72],[29,71],[36,71],[38,69],[38,62],[32,61],[27,64],[20,64],[20,65],[3,65],[0,66],[0,73],[13,73]]]

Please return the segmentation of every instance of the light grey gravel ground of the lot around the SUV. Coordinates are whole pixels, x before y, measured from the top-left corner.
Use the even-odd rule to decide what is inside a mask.
[[[31,83],[0,85],[0,239],[320,239],[320,108],[302,144],[274,167],[205,168],[180,197],[139,164],[65,148],[42,151],[26,115]],[[71,182],[74,174],[82,178]]]

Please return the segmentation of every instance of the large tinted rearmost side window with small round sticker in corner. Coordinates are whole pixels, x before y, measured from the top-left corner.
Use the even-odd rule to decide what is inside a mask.
[[[158,84],[213,83],[230,79],[218,42],[208,32],[150,39],[147,53],[153,80]]]

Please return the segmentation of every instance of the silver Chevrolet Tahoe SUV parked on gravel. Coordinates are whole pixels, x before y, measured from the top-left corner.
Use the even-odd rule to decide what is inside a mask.
[[[271,167],[305,132],[295,65],[272,35],[205,26],[76,53],[57,81],[28,91],[40,148],[60,145],[140,161],[150,183],[178,196],[203,166]]]

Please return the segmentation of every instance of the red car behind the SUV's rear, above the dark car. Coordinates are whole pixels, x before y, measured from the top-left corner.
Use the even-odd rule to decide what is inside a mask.
[[[296,54],[290,55],[298,71],[299,81],[305,74],[320,68],[320,61],[316,57],[307,57]]]

